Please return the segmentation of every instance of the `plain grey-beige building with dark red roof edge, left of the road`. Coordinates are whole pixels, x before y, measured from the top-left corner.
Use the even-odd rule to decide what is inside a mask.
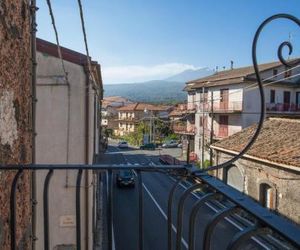
[[[87,74],[87,58],[61,47],[66,82],[57,46],[37,39],[36,162],[91,164],[98,152],[99,101]],[[92,62],[95,84],[101,88],[100,65]],[[43,249],[43,185],[47,171],[37,171],[37,249]],[[76,245],[75,191],[77,171],[54,171],[49,186],[50,249]],[[93,173],[81,180],[82,249],[92,249]]]

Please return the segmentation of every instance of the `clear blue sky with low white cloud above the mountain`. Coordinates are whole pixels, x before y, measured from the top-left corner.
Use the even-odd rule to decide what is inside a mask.
[[[38,0],[38,36],[54,42],[45,0]],[[259,24],[277,13],[300,18],[299,0],[82,0],[90,54],[104,84],[164,79],[186,69],[247,66]],[[77,0],[52,0],[61,45],[84,52]],[[259,62],[276,60],[300,28],[275,21],[258,46]]]

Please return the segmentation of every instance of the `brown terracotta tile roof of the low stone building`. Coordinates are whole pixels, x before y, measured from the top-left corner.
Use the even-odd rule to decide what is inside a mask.
[[[240,152],[257,125],[250,126],[212,145]],[[300,167],[300,119],[268,118],[247,155],[273,163]]]

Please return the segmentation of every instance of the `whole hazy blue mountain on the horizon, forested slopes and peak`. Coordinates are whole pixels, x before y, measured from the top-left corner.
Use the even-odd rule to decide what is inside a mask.
[[[213,74],[208,68],[185,70],[165,80],[140,83],[120,83],[104,85],[104,96],[122,96],[135,102],[174,104],[185,102],[185,83]]]

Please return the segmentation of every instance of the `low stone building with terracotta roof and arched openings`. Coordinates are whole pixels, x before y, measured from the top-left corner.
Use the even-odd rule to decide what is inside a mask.
[[[255,125],[213,144],[215,163],[240,152],[254,130]],[[300,224],[299,149],[300,119],[269,118],[246,155],[215,174],[263,206]]]

